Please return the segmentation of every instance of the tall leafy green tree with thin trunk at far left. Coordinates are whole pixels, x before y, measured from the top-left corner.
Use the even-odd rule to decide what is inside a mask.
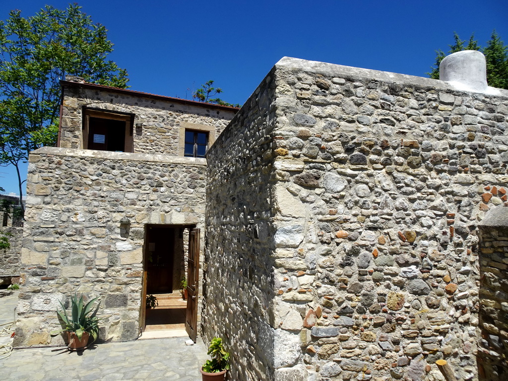
[[[55,145],[59,80],[66,74],[87,82],[127,87],[128,74],[107,59],[113,44],[77,4],[46,6],[32,17],[14,10],[0,21],[0,165],[13,165],[23,195],[19,165],[31,150]]]

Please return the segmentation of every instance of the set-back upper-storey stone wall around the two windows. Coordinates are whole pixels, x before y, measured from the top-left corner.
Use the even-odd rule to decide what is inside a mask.
[[[212,126],[220,134],[237,109],[65,82],[60,147],[82,148],[83,107],[136,114],[134,152],[181,155],[182,128]]]

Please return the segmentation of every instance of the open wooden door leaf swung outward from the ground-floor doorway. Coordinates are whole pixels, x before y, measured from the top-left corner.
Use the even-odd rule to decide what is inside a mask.
[[[199,241],[200,230],[189,232],[189,255],[187,262],[187,314],[185,330],[189,337],[196,342],[198,337],[198,286],[199,286]]]

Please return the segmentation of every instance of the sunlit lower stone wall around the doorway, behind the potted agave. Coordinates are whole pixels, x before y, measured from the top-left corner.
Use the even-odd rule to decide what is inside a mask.
[[[101,337],[138,337],[146,224],[204,226],[206,160],[40,148],[30,154],[16,346],[58,344],[58,301],[101,297]],[[128,218],[130,224],[121,224]]]

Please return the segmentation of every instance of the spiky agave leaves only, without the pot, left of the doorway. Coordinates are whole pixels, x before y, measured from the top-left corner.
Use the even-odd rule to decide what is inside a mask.
[[[97,340],[99,336],[99,318],[96,316],[99,311],[100,303],[97,304],[96,309],[92,310],[93,303],[99,298],[93,298],[88,303],[84,304],[83,295],[78,299],[78,295],[74,294],[71,297],[71,317],[68,316],[65,306],[60,302],[62,310],[57,310],[56,313],[65,326],[64,329],[52,331],[51,334],[55,335],[60,332],[75,332],[79,340],[83,336],[83,332],[88,332],[93,338]]]

